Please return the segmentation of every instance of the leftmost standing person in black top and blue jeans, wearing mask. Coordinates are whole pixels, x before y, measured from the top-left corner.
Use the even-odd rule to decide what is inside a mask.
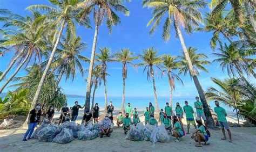
[[[36,127],[36,125],[38,124],[40,117],[42,115],[42,111],[41,111],[41,104],[37,104],[36,108],[33,108],[30,112],[29,112],[29,118],[28,118],[28,130],[26,131],[23,140],[22,141],[27,141],[26,137],[28,137],[28,139],[31,139],[31,135]]]

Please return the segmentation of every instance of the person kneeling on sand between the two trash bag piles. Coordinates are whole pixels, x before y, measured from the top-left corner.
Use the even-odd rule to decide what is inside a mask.
[[[109,119],[109,114],[105,114],[105,118],[100,122],[100,138],[104,135],[110,137],[110,134],[113,132],[113,129],[110,128],[111,120]]]

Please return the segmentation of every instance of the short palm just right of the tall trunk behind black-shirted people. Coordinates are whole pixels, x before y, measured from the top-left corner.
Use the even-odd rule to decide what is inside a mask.
[[[101,73],[102,73],[102,81],[104,83],[104,90],[105,90],[105,108],[104,108],[104,114],[106,114],[106,108],[107,108],[107,90],[106,90],[106,76],[107,76],[107,73],[106,73],[106,70],[107,70],[107,62],[113,62],[115,61],[113,59],[113,55],[111,55],[111,52],[110,52],[110,48],[106,48],[106,47],[103,47],[103,48],[99,48],[99,52],[100,53],[96,53],[96,61],[99,62],[98,63],[98,68],[101,68]],[[89,69],[89,72],[90,72],[90,69]],[[89,82],[87,82],[89,83]]]

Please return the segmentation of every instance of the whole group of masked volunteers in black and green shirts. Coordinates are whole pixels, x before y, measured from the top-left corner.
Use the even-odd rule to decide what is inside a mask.
[[[215,113],[217,113],[217,120],[219,123],[219,126],[223,132],[223,137],[221,140],[226,140],[226,134],[225,129],[228,132],[229,136],[229,142],[232,142],[232,135],[230,132],[230,129],[227,124],[226,116],[227,113],[223,107],[219,106],[219,102],[215,101],[216,107],[214,107]],[[75,102],[75,105],[71,108],[68,107],[68,105],[65,103],[62,107],[61,114],[59,117],[58,125],[65,121],[76,121],[78,117],[79,108],[84,108],[84,106],[78,105],[78,102]],[[149,107],[146,107],[146,110],[144,111],[143,115],[145,117],[144,123],[145,125],[158,125],[158,124],[164,124],[165,129],[170,132],[170,134],[174,137],[176,137],[176,142],[180,141],[180,138],[183,137],[185,134],[190,134],[190,124],[194,126],[196,131],[192,134],[192,139],[198,142],[196,144],[197,147],[201,147],[201,142],[205,142],[205,144],[208,144],[208,137],[209,132],[206,128],[206,117],[203,110],[203,104],[199,101],[199,97],[196,97],[196,102],[194,102],[194,108],[196,108],[197,111],[197,118],[196,122],[198,125],[196,125],[196,122],[193,117],[193,107],[188,105],[188,102],[185,101],[185,106],[183,108],[180,106],[179,103],[176,104],[175,112],[172,111],[172,107],[169,106],[169,103],[166,103],[165,108],[161,108],[159,113],[159,119],[158,121],[154,118],[154,106],[152,103],[149,103]],[[107,113],[105,114],[105,118],[100,121],[100,137],[103,137],[104,135],[110,136],[113,132],[113,128],[111,127],[111,124],[113,124],[113,111],[114,106],[112,105],[112,102],[107,106],[106,108]],[[183,115],[186,115],[186,122],[187,122],[187,132],[185,133],[183,128],[182,119],[184,118]],[[54,107],[50,106],[49,110],[46,112],[46,119],[48,121],[51,121],[53,118],[53,115],[55,114]],[[41,111],[41,104],[37,104],[35,108],[33,108],[29,113],[29,121],[28,121],[28,130],[26,131],[23,141],[26,141],[26,137],[28,136],[28,139],[31,139],[31,135],[33,133],[34,128],[38,124],[40,117],[42,115]],[[96,103],[95,106],[92,108],[92,112],[86,111],[86,113],[83,116],[83,121],[85,122],[85,126],[89,124],[89,122],[99,122],[99,107]],[[203,121],[201,120],[203,119]],[[130,130],[130,125],[137,125],[140,122],[139,114],[137,112],[137,108],[134,108],[132,111],[131,104],[128,103],[127,107],[125,108],[125,117],[122,112],[119,112],[117,115],[117,126],[120,127],[122,125],[124,129],[124,133],[127,134],[127,132]]]

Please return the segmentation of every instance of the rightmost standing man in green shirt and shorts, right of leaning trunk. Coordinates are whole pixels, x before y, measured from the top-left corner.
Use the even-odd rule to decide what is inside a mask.
[[[227,113],[226,110],[220,106],[219,102],[216,100],[215,102],[216,107],[214,107],[214,112],[217,113],[217,120],[219,122],[221,131],[223,133],[223,137],[221,138],[222,140],[226,140],[226,134],[225,134],[225,129],[227,130],[228,136],[230,137],[229,142],[233,142],[232,141],[232,136],[231,136],[231,131],[230,131],[230,127],[227,124]],[[225,129],[224,129],[225,128]]]

